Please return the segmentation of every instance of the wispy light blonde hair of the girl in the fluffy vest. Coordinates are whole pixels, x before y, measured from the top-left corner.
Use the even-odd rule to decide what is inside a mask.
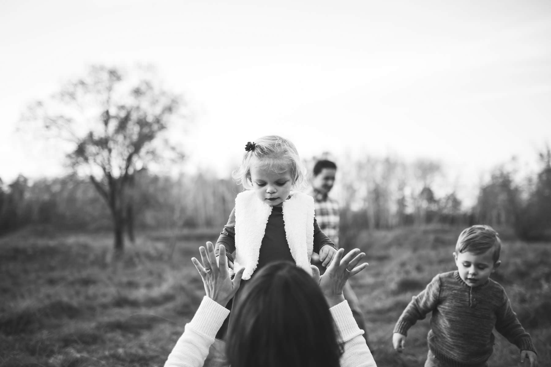
[[[289,171],[295,189],[306,187],[306,168],[302,164],[299,152],[291,141],[279,135],[266,135],[253,143],[251,150],[246,151],[241,166],[232,173],[237,184],[247,190],[252,189],[251,166],[255,164],[272,172]]]

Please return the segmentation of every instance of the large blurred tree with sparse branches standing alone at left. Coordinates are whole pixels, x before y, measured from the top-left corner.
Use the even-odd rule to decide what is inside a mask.
[[[35,101],[21,117],[67,143],[69,166],[87,174],[109,206],[115,257],[123,253],[125,228],[133,228],[134,174],[154,162],[183,158],[168,139],[170,125],[187,120],[179,114],[182,105],[152,68],[127,72],[99,65],[46,101]]]

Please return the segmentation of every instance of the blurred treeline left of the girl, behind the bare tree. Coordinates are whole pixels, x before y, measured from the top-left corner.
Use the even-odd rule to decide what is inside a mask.
[[[129,190],[135,228],[214,227],[225,224],[240,188],[209,174],[162,177],[141,171]],[[0,232],[26,224],[63,229],[110,229],[111,213],[94,185],[75,174],[30,183],[19,176],[0,190]]]

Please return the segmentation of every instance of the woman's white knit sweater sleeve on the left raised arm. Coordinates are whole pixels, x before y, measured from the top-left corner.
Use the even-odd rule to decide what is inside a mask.
[[[229,313],[225,307],[203,297],[195,316],[186,324],[182,336],[166,359],[165,367],[201,367]]]

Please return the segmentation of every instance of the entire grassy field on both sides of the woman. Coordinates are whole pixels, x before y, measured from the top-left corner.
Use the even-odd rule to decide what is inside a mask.
[[[352,279],[380,367],[421,367],[428,319],[392,349],[392,328],[412,295],[453,270],[461,228],[363,232],[368,269]],[[501,233],[505,287],[531,333],[540,366],[551,366],[551,243]],[[24,230],[0,238],[0,366],[162,366],[204,291],[191,264],[201,235],[141,234],[124,261],[109,264],[111,234]],[[496,338],[490,366],[517,366],[518,350]]]

